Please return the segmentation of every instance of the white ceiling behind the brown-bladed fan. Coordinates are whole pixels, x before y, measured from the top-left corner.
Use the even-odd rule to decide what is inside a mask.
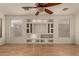
[[[24,10],[22,7],[34,7],[34,3],[0,3],[0,12],[4,15],[34,15],[37,9]],[[67,11],[62,11],[63,8],[69,8]],[[54,11],[52,15],[74,15],[79,13],[79,3],[63,3],[54,7],[48,7]],[[40,15],[49,15],[45,12]]]

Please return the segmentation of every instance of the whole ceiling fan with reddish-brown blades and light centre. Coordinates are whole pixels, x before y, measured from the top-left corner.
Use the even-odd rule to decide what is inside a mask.
[[[35,13],[35,15],[39,15],[40,12],[45,11],[48,14],[53,14],[54,12],[47,9],[47,7],[56,6],[62,3],[36,3],[36,7],[22,7],[24,10],[29,10],[30,8],[37,8],[38,11]]]

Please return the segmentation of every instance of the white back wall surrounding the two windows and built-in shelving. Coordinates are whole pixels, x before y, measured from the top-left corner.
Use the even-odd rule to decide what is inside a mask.
[[[25,35],[25,30],[23,31],[23,36],[22,37],[13,37],[10,38],[10,21],[12,19],[20,19],[20,20],[25,20],[25,19],[54,19],[54,43],[74,43],[74,16],[6,16],[6,42],[7,43],[26,43],[26,35]],[[61,38],[58,36],[58,24],[60,23],[59,21],[67,20],[70,22],[70,37],[69,38]],[[64,22],[65,22],[64,21]],[[24,24],[23,24],[24,26]],[[23,27],[23,29],[25,29]]]

